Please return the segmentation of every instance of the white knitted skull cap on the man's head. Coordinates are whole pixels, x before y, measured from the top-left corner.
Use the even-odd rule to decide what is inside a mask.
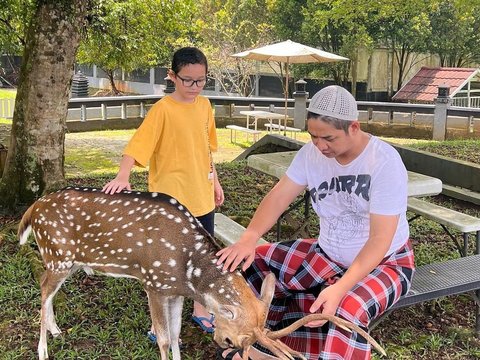
[[[330,85],[313,95],[308,111],[340,120],[358,120],[357,101],[345,88]]]

